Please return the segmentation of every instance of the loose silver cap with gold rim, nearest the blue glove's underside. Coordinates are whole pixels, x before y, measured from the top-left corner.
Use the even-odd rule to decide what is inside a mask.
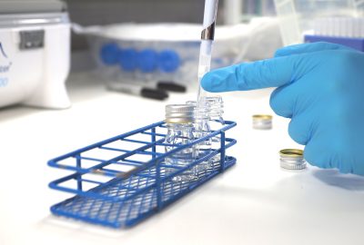
[[[287,170],[303,170],[306,168],[306,161],[303,158],[303,151],[298,149],[284,149],[279,151],[280,167]]]

